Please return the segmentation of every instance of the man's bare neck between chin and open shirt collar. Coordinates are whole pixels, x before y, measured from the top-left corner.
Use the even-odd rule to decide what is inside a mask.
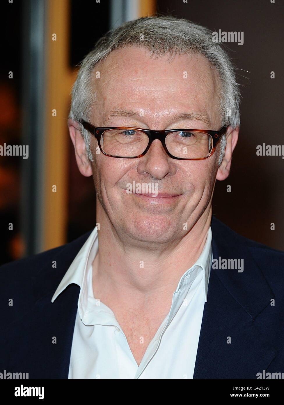
[[[180,277],[203,250],[211,216],[212,208],[208,205],[186,235],[159,249],[145,249],[122,241],[97,201],[97,222],[101,230],[93,261],[94,296],[100,298],[103,289],[104,294],[112,294],[117,299],[127,297],[129,301],[135,299],[142,303],[145,297],[173,294]]]

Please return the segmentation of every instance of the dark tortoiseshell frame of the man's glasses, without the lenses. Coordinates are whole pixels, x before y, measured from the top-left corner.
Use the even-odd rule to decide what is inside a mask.
[[[100,151],[106,155],[106,156],[110,156],[112,158],[122,158],[122,159],[135,159],[135,158],[141,158],[142,156],[144,156],[148,149],[150,148],[152,142],[155,139],[159,139],[159,141],[161,141],[166,153],[168,156],[170,156],[170,158],[172,159],[178,159],[178,160],[204,160],[204,159],[208,159],[210,158],[210,156],[213,155],[217,143],[218,141],[220,141],[220,138],[223,134],[225,134],[226,130],[227,130],[227,126],[223,126],[222,128],[220,128],[220,130],[218,131],[214,131],[214,130],[204,130],[204,129],[170,129],[170,130],[159,130],[159,131],[154,131],[154,130],[150,130],[150,129],[144,129],[144,128],[136,128],[136,127],[95,127],[93,124],[90,124],[89,122],[81,119],[81,124],[83,125],[83,127],[89,131],[92,135],[95,136],[95,138],[97,139],[97,143],[100,147]],[[102,149],[101,146],[101,136],[102,134],[107,131],[107,130],[113,130],[113,129],[123,129],[123,130],[136,130],[136,131],[140,131],[140,132],[144,132],[144,134],[146,134],[148,136],[149,142],[148,145],[146,147],[146,149],[144,150],[143,153],[141,153],[138,156],[114,156],[114,155],[109,155],[108,153],[105,153]],[[165,144],[165,138],[167,136],[167,134],[170,134],[171,132],[179,132],[179,131],[186,131],[186,132],[203,132],[205,134],[208,134],[211,136],[212,138],[212,150],[210,151],[210,153],[208,154],[208,156],[206,156],[205,158],[178,158],[176,156],[173,156],[167,149],[167,146]]]

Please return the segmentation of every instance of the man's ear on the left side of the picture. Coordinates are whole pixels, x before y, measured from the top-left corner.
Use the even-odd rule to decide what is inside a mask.
[[[79,171],[83,176],[89,177],[92,175],[92,168],[87,156],[84,138],[79,130],[79,124],[72,119],[68,119],[68,128],[71,141],[74,145]]]

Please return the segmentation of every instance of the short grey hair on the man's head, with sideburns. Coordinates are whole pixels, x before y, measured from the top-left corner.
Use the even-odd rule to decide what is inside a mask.
[[[142,40],[141,40],[142,39]],[[213,42],[212,31],[186,19],[175,17],[142,17],[128,21],[115,30],[110,30],[100,38],[81,64],[72,87],[72,100],[69,118],[80,122],[90,120],[93,103],[96,100],[95,89],[91,86],[95,65],[104,60],[111,51],[127,46],[144,47],[151,55],[170,55],[200,53],[207,58],[218,72],[220,79],[220,116],[222,126],[239,126],[240,92],[235,79],[234,67],[223,44]],[[82,124],[80,131],[84,137],[89,160],[93,161],[90,151],[90,134]],[[226,137],[220,141],[219,165],[226,146]]]

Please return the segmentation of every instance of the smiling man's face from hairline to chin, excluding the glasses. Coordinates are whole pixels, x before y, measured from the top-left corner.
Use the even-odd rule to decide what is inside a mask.
[[[98,70],[100,79],[93,79],[97,102],[90,119],[95,126],[220,129],[218,79],[202,55],[178,55],[169,62],[167,57],[150,58],[149,51],[128,47],[110,53],[95,67]],[[182,113],[196,113],[199,119],[176,117]],[[219,148],[205,160],[176,160],[157,139],[146,155],[134,159],[96,154],[96,147],[92,136],[97,197],[119,234],[140,242],[167,243],[186,234],[210,209]],[[174,196],[129,194],[127,184],[133,181],[157,184],[158,193]]]

